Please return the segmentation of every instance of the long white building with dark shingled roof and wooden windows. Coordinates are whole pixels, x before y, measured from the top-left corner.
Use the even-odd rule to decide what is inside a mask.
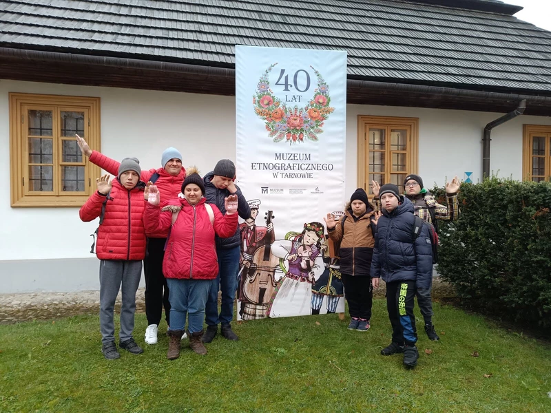
[[[427,187],[477,182],[484,128],[522,100],[524,114],[491,131],[489,170],[551,176],[551,33],[512,17],[517,6],[85,3],[0,1],[0,293],[98,288],[97,222],[78,208],[100,171],[76,131],[147,169],[169,146],[202,173],[235,159],[235,44],[347,50],[346,193],[408,172]]]

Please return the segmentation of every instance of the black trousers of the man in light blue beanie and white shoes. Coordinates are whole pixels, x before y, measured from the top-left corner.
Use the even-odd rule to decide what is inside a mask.
[[[163,275],[163,258],[165,257],[166,238],[149,238],[147,255],[143,260],[145,274],[145,315],[147,324],[160,324],[165,307],[167,324],[170,317],[170,302],[168,301],[167,279]]]

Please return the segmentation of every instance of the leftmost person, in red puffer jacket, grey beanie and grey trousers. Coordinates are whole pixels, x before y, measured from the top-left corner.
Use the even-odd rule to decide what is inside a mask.
[[[105,175],[96,180],[98,191],[83,205],[80,211],[84,222],[100,218],[96,255],[101,260],[100,283],[100,328],[101,351],[105,359],[118,359],[115,344],[113,311],[116,296],[122,284],[121,330],[118,346],[141,354],[143,349],[132,338],[136,290],[142,274],[145,257],[145,229],[143,211],[145,184],[140,182],[140,161],[125,158],[118,168],[118,176],[111,182]],[[103,211],[102,211],[103,210]]]

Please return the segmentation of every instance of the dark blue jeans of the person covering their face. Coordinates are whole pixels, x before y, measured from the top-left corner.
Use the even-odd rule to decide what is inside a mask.
[[[218,326],[218,323],[229,324],[233,318],[233,300],[236,299],[240,254],[240,246],[227,249],[216,248],[219,269],[218,275],[212,280],[205,309],[207,326]],[[218,290],[222,290],[220,315],[218,315]]]

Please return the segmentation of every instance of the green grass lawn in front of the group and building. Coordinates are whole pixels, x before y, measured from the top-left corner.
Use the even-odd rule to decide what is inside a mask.
[[[140,356],[103,359],[94,316],[4,325],[0,412],[551,412],[548,343],[435,312],[441,341],[420,332],[415,370],[379,354],[391,340],[382,300],[368,332],[336,315],[234,323],[240,341],[217,337],[206,357],[183,341],[176,361],[164,334]],[[137,315],[143,346],[146,324]]]

